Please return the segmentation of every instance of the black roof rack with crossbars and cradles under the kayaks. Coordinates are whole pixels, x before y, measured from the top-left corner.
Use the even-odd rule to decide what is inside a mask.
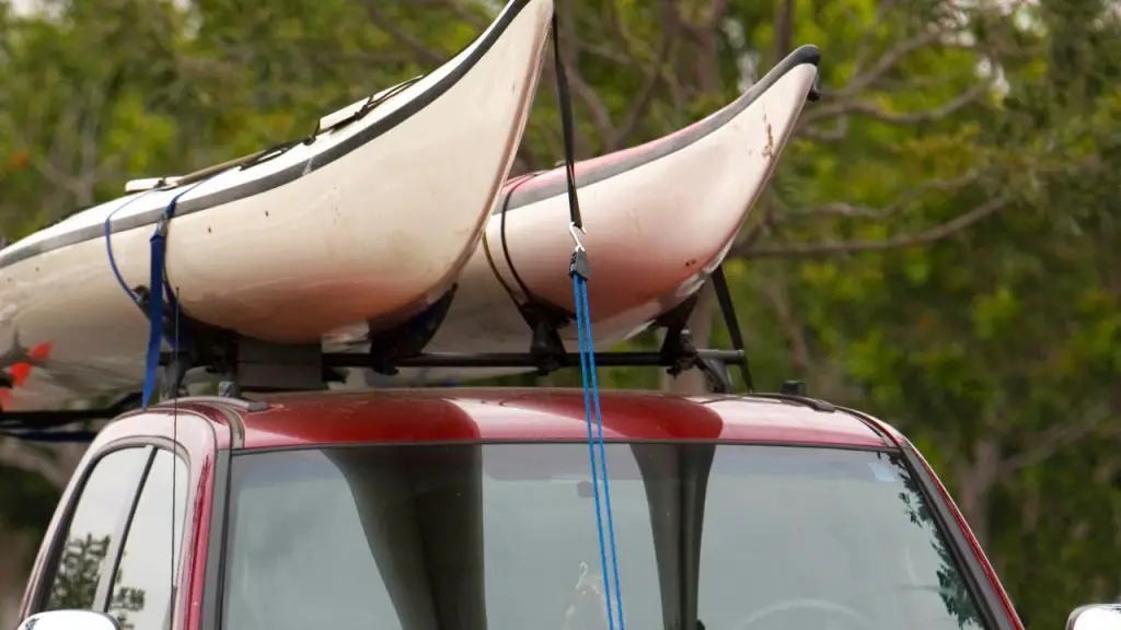
[[[723,269],[717,267],[706,281],[711,281],[732,350],[697,349],[688,330],[688,318],[696,307],[700,291],[676,308],[665,313],[650,327],[665,328],[661,348],[656,352],[597,352],[599,367],[661,367],[670,374],[698,369],[705,376],[708,389],[730,393],[731,365],[736,365],[748,390],[753,390],[751,370],[743,336],[728,289]],[[345,374],[342,368],[370,369],[393,376],[407,368],[532,368],[538,374],[559,369],[578,368],[577,353],[565,349],[558,333],[569,323],[569,315],[559,309],[545,312],[541,305],[522,307],[522,316],[532,330],[532,341],[525,353],[427,353],[424,348],[439,328],[454,299],[453,287],[427,311],[408,322],[371,335],[365,353],[324,352],[321,344],[284,345],[252,340],[193,321],[178,314],[178,349],[164,353],[164,378],[158,392],[160,399],[184,395],[184,379],[189,371],[205,370],[219,374],[220,396],[240,398],[242,392],[276,392],[293,390],[322,390],[328,382],[340,382]],[[141,294],[141,299],[147,299]],[[147,305],[141,305],[147,312]],[[165,328],[174,330],[174,314],[165,314]],[[0,372],[0,376],[3,373]],[[0,388],[6,383],[0,379]],[[64,441],[89,437],[85,432],[59,433],[65,425],[111,419],[142,400],[140,392],[129,393],[108,407],[54,411],[4,411],[0,409],[0,435],[25,439]]]

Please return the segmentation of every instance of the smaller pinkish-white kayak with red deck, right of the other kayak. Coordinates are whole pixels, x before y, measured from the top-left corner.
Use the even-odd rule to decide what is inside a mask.
[[[576,165],[596,349],[646,330],[723,261],[790,138],[818,58],[815,46],[803,46],[704,120]],[[524,303],[528,287],[538,299],[574,313],[568,216],[564,167],[512,178],[425,350],[526,352],[530,330],[508,289]],[[331,339],[346,342],[356,333],[340,331]],[[576,351],[575,325],[560,337]],[[525,370],[401,369],[396,377],[364,370],[367,385],[461,382],[518,371]]]

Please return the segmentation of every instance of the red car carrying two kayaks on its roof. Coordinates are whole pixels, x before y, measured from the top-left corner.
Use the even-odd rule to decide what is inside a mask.
[[[611,391],[602,417],[610,571],[580,390],[128,413],[65,491],[22,629],[1022,628],[890,426],[795,395]]]

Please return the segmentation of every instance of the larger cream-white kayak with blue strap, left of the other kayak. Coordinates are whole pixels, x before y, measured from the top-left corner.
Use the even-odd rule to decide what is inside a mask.
[[[439,298],[509,175],[552,15],[553,0],[509,0],[446,64],[324,117],[303,141],[130,183],[138,192],[4,247],[0,369],[40,356],[0,405],[64,408],[139,388],[148,322],[126,287],[149,284],[149,239],[173,200],[167,282],[194,319],[308,343]]]

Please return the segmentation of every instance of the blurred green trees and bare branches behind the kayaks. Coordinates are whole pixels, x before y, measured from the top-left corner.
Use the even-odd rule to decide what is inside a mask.
[[[0,0],[0,234],[131,177],[307,133],[448,58],[498,4]],[[908,432],[1034,628],[1117,599],[1117,3],[558,0],[558,12],[578,157],[680,128],[794,47],[821,47],[823,98],[726,263],[757,386],[799,378]],[[563,156],[552,65],[539,94],[519,172]],[[695,331],[726,342],[711,305]],[[0,621],[80,454],[0,437]]]

